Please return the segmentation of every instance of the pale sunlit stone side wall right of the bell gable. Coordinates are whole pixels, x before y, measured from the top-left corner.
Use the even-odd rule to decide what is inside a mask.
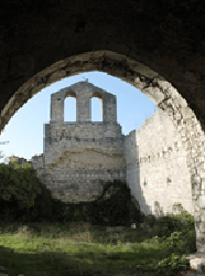
[[[194,215],[186,150],[172,120],[161,109],[125,139],[127,183],[141,211],[155,216],[181,203]]]

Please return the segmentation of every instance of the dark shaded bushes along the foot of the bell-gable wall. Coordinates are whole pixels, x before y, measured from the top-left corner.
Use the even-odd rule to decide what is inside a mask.
[[[143,215],[130,194],[127,183],[115,180],[104,183],[98,199],[79,204],[53,199],[51,191],[36,178],[31,164],[18,164],[13,160],[7,167],[0,164],[0,202],[6,221],[66,222],[89,221],[95,225],[125,225],[142,222]]]

